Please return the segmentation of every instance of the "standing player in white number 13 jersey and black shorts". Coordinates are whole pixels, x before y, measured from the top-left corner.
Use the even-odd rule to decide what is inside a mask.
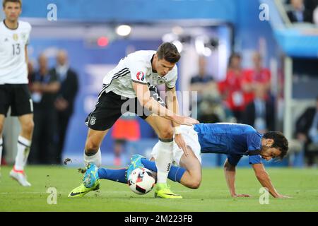
[[[18,20],[22,7],[20,0],[4,0],[3,7],[6,19],[0,23],[0,160],[4,119],[11,107],[11,116],[18,117],[22,130],[18,136],[18,153],[10,176],[22,186],[31,186],[24,172],[34,127],[27,67],[31,25]]]

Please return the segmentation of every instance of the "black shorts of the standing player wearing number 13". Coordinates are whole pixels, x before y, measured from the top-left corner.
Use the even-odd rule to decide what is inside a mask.
[[[28,84],[0,85],[0,114],[6,114],[11,107],[11,116],[33,113],[33,102]]]

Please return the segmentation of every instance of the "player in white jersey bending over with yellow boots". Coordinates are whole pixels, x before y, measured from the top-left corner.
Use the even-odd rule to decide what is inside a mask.
[[[160,198],[182,198],[167,186],[167,174],[172,164],[174,128],[179,124],[197,124],[196,119],[180,116],[175,84],[180,54],[174,44],[165,42],[156,51],[137,51],[124,57],[103,80],[103,88],[93,112],[88,115],[88,137],[84,160],[86,169],[98,170],[101,164],[100,144],[114,122],[124,113],[139,115],[150,124],[159,137],[159,152],[155,160],[158,182],[155,195]],[[167,107],[156,93],[156,86],[165,84]],[[175,142],[187,150],[181,134]],[[99,188],[99,181],[84,181],[69,197],[83,196]]]

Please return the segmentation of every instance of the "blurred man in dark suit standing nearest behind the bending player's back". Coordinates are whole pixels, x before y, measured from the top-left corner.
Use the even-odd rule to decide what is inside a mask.
[[[66,131],[69,126],[69,119],[73,114],[76,94],[78,93],[78,76],[70,68],[65,50],[60,50],[57,53],[57,66],[50,73],[57,77],[59,83],[61,83],[61,88],[54,101],[54,107],[57,110],[57,157],[55,163],[61,164]]]

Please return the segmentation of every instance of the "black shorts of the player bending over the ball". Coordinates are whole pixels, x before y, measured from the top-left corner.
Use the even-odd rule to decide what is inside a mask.
[[[165,102],[163,102],[156,92],[157,89],[150,88],[150,90],[151,96],[160,102],[161,105],[165,106]],[[140,105],[137,98],[122,97],[116,93],[109,92],[100,95],[95,109],[88,114],[85,123],[90,129],[105,131],[106,129],[110,129],[117,119],[126,112],[137,114],[141,119],[146,119],[151,115],[148,109]]]

